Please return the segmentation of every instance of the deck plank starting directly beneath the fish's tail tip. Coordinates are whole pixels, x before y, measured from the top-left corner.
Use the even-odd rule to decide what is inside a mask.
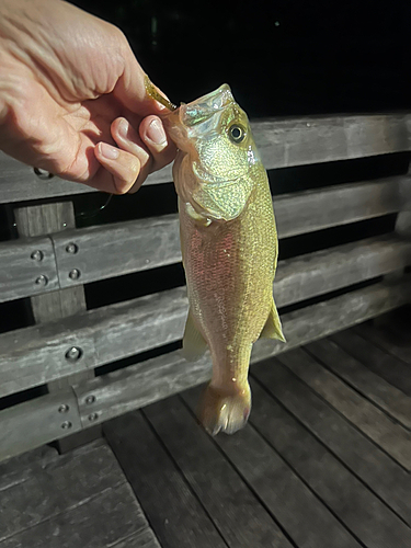
[[[190,390],[182,395],[192,409],[196,408],[199,390]],[[295,546],[298,548],[359,546],[329,509],[250,424],[233,436],[216,436],[215,442],[287,532]]]

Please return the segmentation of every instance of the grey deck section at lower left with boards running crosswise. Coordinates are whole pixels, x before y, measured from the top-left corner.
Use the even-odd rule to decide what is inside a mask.
[[[31,457],[0,465],[1,548],[160,548],[105,443]]]

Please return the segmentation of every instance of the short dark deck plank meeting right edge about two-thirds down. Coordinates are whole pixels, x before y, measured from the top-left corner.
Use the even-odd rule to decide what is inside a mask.
[[[387,383],[411,396],[411,375],[408,364],[387,354],[352,331],[335,333],[331,340]]]

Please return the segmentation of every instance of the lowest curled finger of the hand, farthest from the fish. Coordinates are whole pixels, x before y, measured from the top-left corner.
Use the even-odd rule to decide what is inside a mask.
[[[106,142],[94,148],[95,158],[113,175],[113,193],[125,194],[134,185],[140,172],[138,158]]]

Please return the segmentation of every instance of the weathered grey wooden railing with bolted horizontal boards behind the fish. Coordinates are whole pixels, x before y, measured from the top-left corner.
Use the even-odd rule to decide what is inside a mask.
[[[261,119],[252,127],[269,170],[411,150],[411,114]],[[169,167],[146,184],[170,181]],[[0,333],[0,460],[53,441],[62,449],[65,439],[67,447],[81,443],[99,435],[102,422],[210,375],[207,356],[192,364],[167,347],[182,338],[185,287],[87,309],[87,284],[121,284],[125,274],[181,261],[176,215],[76,228],[69,196],[89,192],[0,156],[0,204],[13,209],[19,232],[0,242],[0,304],[30,298],[34,319]],[[324,229],[387,215],[397,220],[383,236],[281,260],[274,290],[287,343],[259,341],[253,362],[411,301],[410,174],[282,194],[274,208],[281,240],[320,239]],[[160,349],[156,357],[116,366],[152,349]],[[94,376],[105,364],[118,369]]]

